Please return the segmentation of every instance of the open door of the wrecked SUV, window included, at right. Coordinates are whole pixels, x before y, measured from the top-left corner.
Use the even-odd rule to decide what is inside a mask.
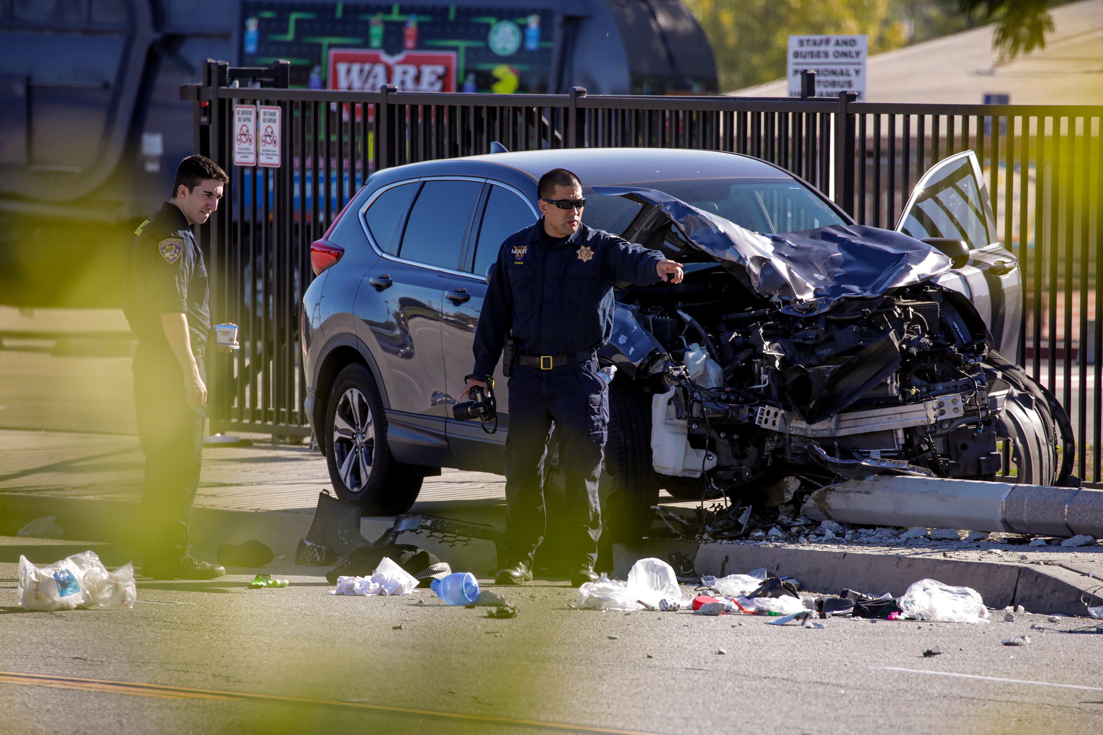
[[[935,282],[965,294],[988,325],[996,349],[1014,360],[1022,315],[1022,277],[1018,260],[997,239],[988,188],[973,151],[939,161],[923,174],[896,229],[919,240],[965,242],[968,261]]]

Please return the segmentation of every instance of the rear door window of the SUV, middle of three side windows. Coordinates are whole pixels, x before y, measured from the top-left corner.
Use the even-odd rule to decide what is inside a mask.
[[[456,269],[482,182],[427,181],[410,209],[398,257]]]

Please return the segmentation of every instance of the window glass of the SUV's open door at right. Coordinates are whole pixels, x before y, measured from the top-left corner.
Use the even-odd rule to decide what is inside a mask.
[[[928,237],[961,239],[972,249],[990,245],[984,199],[968,159],[963,159],[960,165],[947,166],[927,182],[900,231],[920,240]]]

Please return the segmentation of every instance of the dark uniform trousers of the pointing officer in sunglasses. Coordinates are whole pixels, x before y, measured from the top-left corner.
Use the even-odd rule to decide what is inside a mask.
[[[510,377],[510,433],[505,440],[506,562],[526,562],[547,525],[544,471],[554,421],[559,435],[571,562],[597,560],[601,536],[598,477],[609,425],[609,391],[598,360],[540,370],[518,365]]]

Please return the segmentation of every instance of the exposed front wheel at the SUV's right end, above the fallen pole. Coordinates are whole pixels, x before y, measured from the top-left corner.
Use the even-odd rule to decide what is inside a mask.
[[[1017,475],[997,475],[985,479],[1058,487],[1069,485],[1073,479],[1077,443],[1064,408],[1026,370],[999,353],[990,350],[986,361],[989,382],[996,377],[1010,387],[1004,410],[996,420],[996,434],[1004,442],[1009,442],[1007,455]],[[1060,453],[1058,446],[1061,447]],[[1007,472],[1006,467],[1004,472]]]

